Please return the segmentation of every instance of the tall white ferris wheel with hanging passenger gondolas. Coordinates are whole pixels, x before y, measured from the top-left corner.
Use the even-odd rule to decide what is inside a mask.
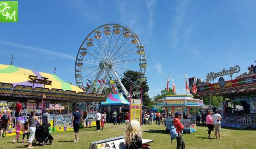
[[[122,93],[128,97],[121,79],[138,87],[146,78],[146,55],[139,36],[131,29],[119,24],[105,24],[94,29],[82,42],[75,64],[77,85],[87,89],[87,94],[105,94],[105,89]],[[124,72],[137,72],[131,81]],[[138,90],[138,88],[137,88]]]

